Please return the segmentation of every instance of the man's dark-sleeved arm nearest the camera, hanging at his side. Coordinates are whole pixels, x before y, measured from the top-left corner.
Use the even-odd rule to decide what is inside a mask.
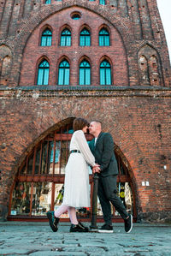
[[[100,164],[100,171],[103,172],[110,162],[112,154],[114,153],[114,140],[111,134],[105,134],[103,137],[103,152],[102,152],[102,161]]]

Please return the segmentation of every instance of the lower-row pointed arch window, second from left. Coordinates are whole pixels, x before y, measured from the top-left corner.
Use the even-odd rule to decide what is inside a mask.
[[[68,86],[69,85],[69,63],[66,60],[63,60],[59,64],[58,71],[58,85],[60,86]]]

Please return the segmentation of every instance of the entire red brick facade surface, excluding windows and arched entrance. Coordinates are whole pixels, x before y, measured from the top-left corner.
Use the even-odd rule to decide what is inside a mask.
[[[5,219],[10,188],[32,147],[75,116],[103,122],[127,168],[136,192],[138,217],[170,221],[171,211],[171,70],[156,1],[19,1],[0,10],[0,217]],[[80,12],[80,20],[71,14]],[[52,45],[39,46],[44,27]],[[72,45],[60,46],[64,27]],[[82,27],[91,31],[91,46],[79,46]],[[98,46],[107,27],[110,46]],[[37,86],[38,63],[50,63],[48,86]],[[57,86],[62,58],[70,63],[69,86]],[[79,64],[91,63],[91,86],[79,86]],[[99,65],[111,64],[112,85],[100,86]],[[143,186],[142,182],[149,182]]]

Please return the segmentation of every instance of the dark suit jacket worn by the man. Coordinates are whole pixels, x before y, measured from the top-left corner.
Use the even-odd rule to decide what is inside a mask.
[[[92,154],[96,163],[100,165],[101,176],[111,176],[118,174],[118,166],[114,153],[114,140],[109,133],[100,133],[97,137],[96,146],[95,139],[89,142]]]

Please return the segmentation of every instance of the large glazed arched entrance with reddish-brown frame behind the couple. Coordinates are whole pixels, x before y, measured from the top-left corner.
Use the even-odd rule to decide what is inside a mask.
[[[56,210],[62,204],[65,165],[68,161],[69,143],[73,134],[72,122],[50,132],[39,141],[21,164],[12,186],[9,202],[9,220],[47,220],[46,211]],[[90,134],[86,139],[91,140]],[[135,193],[133,181],[117,146],[115,154],[119,166],[118,194],[126,205],[127,211],[136,218]],[[90,195],[92,199],[92,175],[90,169]],[[92,201],[92,200],[91,200]],[[78,217],[91,221],[91,208],[81,208]],[[98,202],[97,221],[102,220],[102,210]],[[113,208],[113,218],[121,217]],[[68,221],[68,213],[62,215]]]

